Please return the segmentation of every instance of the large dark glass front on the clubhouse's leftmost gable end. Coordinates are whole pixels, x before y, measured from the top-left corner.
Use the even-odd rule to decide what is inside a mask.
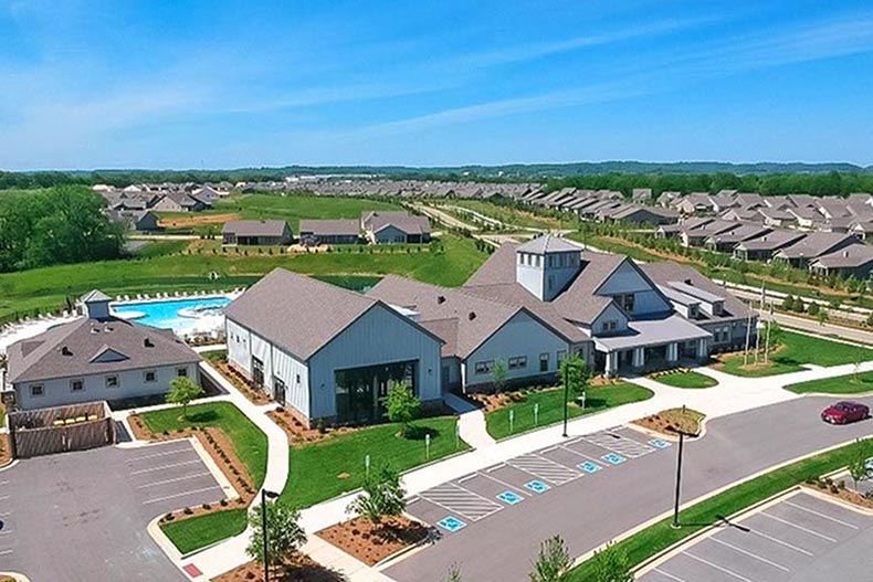
[[[379,420],[383,400],[392,382],[401,382],[418,395],[417,362],[397,362],[337,370],[336,415],[339,423],[365,423]]]

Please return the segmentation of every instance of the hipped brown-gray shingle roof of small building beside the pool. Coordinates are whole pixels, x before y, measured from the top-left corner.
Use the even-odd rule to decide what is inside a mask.
[[[171,331],[111,318],[76,319],[9,347],[9,381],[120,372],[193,363],[198,356]],[[115,358],[107,353],[120,355]]]

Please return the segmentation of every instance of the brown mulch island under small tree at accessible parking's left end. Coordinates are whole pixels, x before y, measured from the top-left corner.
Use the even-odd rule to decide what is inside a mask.
[[[369,565],[424,541],[430,535],[430,528],[402,516],[386,519],[378,526],[356,517],[316,532],[319,538]]]

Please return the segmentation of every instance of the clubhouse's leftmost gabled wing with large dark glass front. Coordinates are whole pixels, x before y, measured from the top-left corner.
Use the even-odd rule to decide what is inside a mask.
[[[276,268],[225,309],[228,361],[294,412],[358,424],[392,382],[439,403],[443,340],[385,301]]]

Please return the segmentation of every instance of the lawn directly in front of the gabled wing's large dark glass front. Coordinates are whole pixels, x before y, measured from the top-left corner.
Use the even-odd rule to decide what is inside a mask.
[[[397,436],[398,424],[380,424],[337,435],[322,443],[291,447],[291,475],[281,499],[304,508],[360,487],[365,477],[365,457],[371,467],[389,464],[408,470],[428,462],[424,433],[431,434],[430,461],[457,451],[455,416],[421,419],[414,423],[414,435]]]

